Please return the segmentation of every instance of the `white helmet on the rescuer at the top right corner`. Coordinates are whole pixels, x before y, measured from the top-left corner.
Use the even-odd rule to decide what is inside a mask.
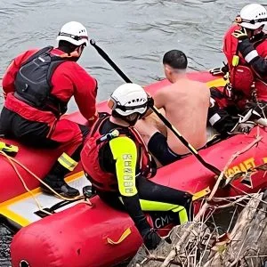
[[[262,4],[247,4],[241,9],[239,18],[242,27],[256,29],[267,24],[267,11]]]

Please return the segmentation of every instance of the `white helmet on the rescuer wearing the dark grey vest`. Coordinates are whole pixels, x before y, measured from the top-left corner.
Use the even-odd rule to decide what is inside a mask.
[[[88,34],[85,26],[77,21],[70,21],[61,28],[58,41],[67,41],[71,44],[88,44]]]

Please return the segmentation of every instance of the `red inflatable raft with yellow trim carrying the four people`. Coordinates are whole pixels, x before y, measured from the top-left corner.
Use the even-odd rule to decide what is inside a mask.
[[[210,86],[224,83],[222,78],[212,77],[206,72],[191,73],[190,78],[208,82]],[[148,86],[147,90],[153,94],[166,84],[166,81],[158,82]],[[99,110],[105,109],[106,103],[103,102],[99,105]],[[69,119],[85,123],[78,113],[69,115]],[[243,150],[258,135],[263,137],[261,142],[236,158],[227,174],[247,171],[267,162],[267,134],[263,127],[255,127],[248,135],[236,135],[216,142],[200,150],[199,154],[222,170],[232,154]],[[18,145],[20,151],[15,159],[40,177],[44,177],[53,161],[61,154],[61,151],[29,150]],[[23,180],[43,208],[53,206],[55,214],[44,217],[30,193],[25,192],[25,187],[11,163],[4,156],[1,157],[0,182],[4,185],[4,190],[0,191],[0,214],[13,225],[23,226],[12,240],[13,267],[112,266],[133,256],[142,244],[142,239],[127,214],[112,209],[97,196],[90,199],[93,206],[77,202],[66,203],[58,198],[45,196],[37,188],[39,182],[23,167],[18,166]],[[219,190],[217,196],[236,196],[244,191],[255,192],[267,186],[267,178],[261,170],[252,173],[248,182],[244,182],[243,178],[232,182],[234,187]],[[77,188],[89,183],[80,168],[67,179]],[[158,169],[153,181],[194,193],[208,186],[212,188],[215,178],[194,156],[188,156]],[[148,214],[148,218],[162,235],[166,234],[166,228],[172,225],[173,220],[172,214],[154,213]]]

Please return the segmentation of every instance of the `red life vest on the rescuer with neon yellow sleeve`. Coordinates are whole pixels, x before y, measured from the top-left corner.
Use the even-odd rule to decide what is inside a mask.
[[[106,145],[109,140],[99,142],[103,134],[100,134],[101,125],[109,119],[109,115],[100,117],[88,135],[85,146],[81,152],[81,162],[85,170],[85,175],[92,185],[101,191],[117,191],[117,178],[116,174],[107,173],[102,170],[100,164],[100,150]],[[113,129],[115,130],[115,129]],[[117,128],[119,135],[125,136],[125,131],[123,128]],[[127,131],[131,135],[129,136],[136,144],[138,150],[138,159],[137,159],[137,173],[141,174],[144,177],[150,178],[156,174],[156,167],[153,164],[152,158],[145,148],[145,144],[142,141],[142,137],[133,127],[128,127]],[[107,133],[108,134],[108,133]],[[115,137],[117,138],[117,137]]]

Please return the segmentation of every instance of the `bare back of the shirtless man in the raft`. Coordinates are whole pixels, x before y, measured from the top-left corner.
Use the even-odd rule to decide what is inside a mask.
[[[166,118],[196,149],[206,144],[209,100],[208,87],[187,78],[159,90],[154,96],[158,109],[165,109]],[[170,129],[167,129],[167,143],[179,155],[189,152]]]

